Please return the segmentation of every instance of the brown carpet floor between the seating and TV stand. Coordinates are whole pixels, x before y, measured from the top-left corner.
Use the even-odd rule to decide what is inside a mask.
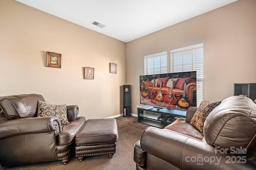
[[[61,161],[43,162],[16,166],[12,168],[2,167],[2,170],[135,170],[133,161],[134,144],[140,140],[142,131],[148,125],[138,123],[137,117],[117,117],[119,139],[116,144],[116,153],[113,158],[108,155],[87,156],[79,162],[73,154],[66,165]],[[22,158],[21,158],[22,159]]]

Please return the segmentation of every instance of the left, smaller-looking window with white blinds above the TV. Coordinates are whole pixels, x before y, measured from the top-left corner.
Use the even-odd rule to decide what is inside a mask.
[[[144,56],[144,74],[167,73],[167,52]]]

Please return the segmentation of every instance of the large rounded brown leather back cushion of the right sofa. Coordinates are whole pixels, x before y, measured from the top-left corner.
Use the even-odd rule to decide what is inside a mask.
[[[204,122],[206,143],[220,148],[246,148],[256,145],[256,104],[244,96],[222,100]]]

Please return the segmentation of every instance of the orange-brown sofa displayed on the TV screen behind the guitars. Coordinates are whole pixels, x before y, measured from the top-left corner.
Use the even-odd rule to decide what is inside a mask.
[[[146,82],[145,81],[142,82],[142,84],[141,84],[143,86],[143,89],[145,87],[147,87],[147,89],[148,89],[148,96],[151,95],[151,91],[152,91],[152,87],[153,87],[152,85],[150,85],[150,83],[151,82],[148,82],[147,86],[146,86]],[[156,95],[156,94],[158,94],[158,92],[160,90],[160,87],[154,86],[153,90],[154,90],[154,95]],[[162,87],[161,88],[161,92],[162,92],[163,96],[166,96],[166,93],[168,91],[170,91],[170,88],[168,88],[168,87]],[[190,103],[191,106],[193,106],[193,104],[194,104],[193,103],[193,98],[196,98],[196,93],[194,93],[195,91],[196,91],[196,82],[188,83],[187,86],[186,86],[186,96],[188,96],[188,102]],[[176,99],[178,101],[178,100],[180,100],[180,95],[183,95],[184,90],[180,90],[178,88],[173,88],[172,92],[175,92],[175,97],[176,97]],[[194,106],[196,106],[196,105],[194,105]]]

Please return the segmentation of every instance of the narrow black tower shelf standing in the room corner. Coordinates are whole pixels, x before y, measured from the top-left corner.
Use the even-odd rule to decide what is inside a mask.
[[[131,116],[131,85],[123,85],[123,111],[124,117]]]

